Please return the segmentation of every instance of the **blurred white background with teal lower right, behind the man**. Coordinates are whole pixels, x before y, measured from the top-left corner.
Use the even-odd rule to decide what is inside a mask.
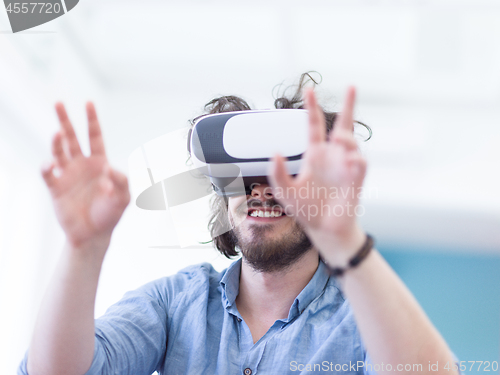
[[[329,109],[355,85],[356,117],[373,129],[362,145],[363,227],[460,360],[498,361],[497,1],[82,0],[18,34],[0,7],[0,373],[13,374],[29,345],[64,242],[39,172],[57,100],[85,150],[84,105],[95,102],[109,159],[127,173],[134,150],[186,128],[212,98],[272,108],[273,88],[310,70]],[[131,204],[96,316],[125,291],[205,261],[230,263],[210,246],[178,248],[168,213]]]

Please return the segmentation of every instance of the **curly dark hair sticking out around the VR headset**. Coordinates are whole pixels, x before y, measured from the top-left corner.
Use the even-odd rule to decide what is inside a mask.
[[[314,73],[318,74],[319,79],[315,79],[315,77],[312,76],[312,74]],[[276,109],[304,109],[304,101],[302,98],[303,89],[308,84],[316,86],[319,83],[321,83],[321,75],[319,73],[303,73],[300,76],[299,83],[297,85],[286,88],[282,92],[281,96],[275,99],[274,107]],[[281,86],[276,87],[279,88]],[[290,89],[294,90],[293,95],[286,96],[287,91],[290,91]],[[240,97],[229,95],[212,99],[207,104],[205,104],[204,109],[205,113],[203,115],[198,116],[190,121],[191,126],[194,126],[197,120],[209,114],[233,111],[250,111],[252,108],[250,108],[248,103]],[[337,112],[328,112],[323,109],[323,113],[325,115],[327,133],[329,133],[333,129],[335,119],[337,118]],[[368,130],[369,136],[365,141],[369,140],[372,136],[371,128],[360,121],[356,122],[364,126]],[[217,250],[219,250],[227,258],[231,259],[231,257],[239,255],[239,251],[236,250],[237,241],[233,231],[231,230],[221,235],[216,235],[216,233],[221,232],[222,228],[228,227],[227,210],[227,199],[214,194],[210,200],[210,219],[208,222],[208,229],[213,238],[212,241],[214,243],[214,246],[217,248]]]

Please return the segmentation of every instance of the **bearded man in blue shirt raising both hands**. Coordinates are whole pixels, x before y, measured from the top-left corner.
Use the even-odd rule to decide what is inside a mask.
[[[276,155],[270,185],[229,199],[227,220],[245,220],[215,242],[242,258],[221,273],[202,264],[153,281],[95,322],[101,265],[130,196],[126,177],[108,165],[93,105],[84,157],[57,104],[61,131],[42,173],[66,249],[20,373],[456,374],[446,343],[360,228],[357,195],[289,194],[358,191],[366,173],[353,137],[354,89],[328,135],[314,92],[304,96],[309,146],[299,174],[289,176]],[[301,205],[329,214],[306,215]]]

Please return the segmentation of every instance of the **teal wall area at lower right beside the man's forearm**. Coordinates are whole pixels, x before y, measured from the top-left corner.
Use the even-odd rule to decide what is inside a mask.
[[[380,252],[460,360],[499,361],[500,254],[391,247]],[[478,372],[478,365],[466,373],[498,373]]]

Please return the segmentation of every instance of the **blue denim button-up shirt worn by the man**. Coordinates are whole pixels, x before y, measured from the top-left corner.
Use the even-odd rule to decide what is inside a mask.
[[[240,270],[241,259],[220,273],[203,263],[126,293],[96,320],[87,374],[376,373],[324,263],[255,344],[236,308]],[[18,374],[27,374],[26,357]]]

